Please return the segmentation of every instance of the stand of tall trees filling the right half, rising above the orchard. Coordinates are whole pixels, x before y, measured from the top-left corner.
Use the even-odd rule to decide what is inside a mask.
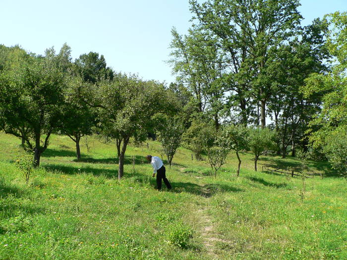
[[[328,158],[346,173],[347,13],[302,26],[299,0],[189,3],[193,24],[172,29],[169,64],[190,140],[206,122],[255,125],[276,132],[274,154]]]

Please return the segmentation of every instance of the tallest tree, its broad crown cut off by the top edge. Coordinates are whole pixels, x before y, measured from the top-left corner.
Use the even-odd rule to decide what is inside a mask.
[[[199,25],[219,37],[223,47],[230,50],[231,57],[243,58],[241,73],[248,75],[252,95],[259,102],[261,126],[265,127],[266,104],[272,92],[271,77],[266,73],[269,50],[288,40],[298,26],[299,0],[189,2]]]

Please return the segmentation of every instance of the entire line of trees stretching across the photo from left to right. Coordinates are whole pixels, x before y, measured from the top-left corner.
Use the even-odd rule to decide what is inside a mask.
[[[298,0],[190,0],[193,25],[172,29],[166,86],[117,73],[96,52],[71,58],[0,45],[0,129],[21,139],[34,163],[53,133],[76,145],[114,141],[118,178],[130,138],[156,133],[171,165],[178,146],[205,154],[215,172],[233,150],[286,157],[310,152],[347,170],[347,13],[301,26]],[[266,125],[266,117],[272,122]],[[223,159],[224,158],[224,159]]]

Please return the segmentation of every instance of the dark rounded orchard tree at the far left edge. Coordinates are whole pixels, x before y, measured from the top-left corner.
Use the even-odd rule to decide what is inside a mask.
[[[35,166],[39,166],[49,138],[61,121],[65,77],[48,59],[36,57],[14,71],[2,73],[0,81],[1,115],[5,124],[13,128],[18,124],[27,126],[29,133],[17,136],[25,139],[34,152]]]

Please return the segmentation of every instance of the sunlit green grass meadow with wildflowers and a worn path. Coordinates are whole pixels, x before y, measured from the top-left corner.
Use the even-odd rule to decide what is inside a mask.
[[[74,143],[57,135],[27,185],[13,163],[18,144],[0,133],[0,260],[347,259],[346,179],[329,177],[325,162],[308,162],[326,175],[305,180],[301,202],[300,178],[255,172],[248,153],[238,178],[233,154],[214,178],[179,149],[167,167],[173,190],[158,192],[144,156],[161,156],[159,143],[130,145],[119,182],[115,144],[89,138],[87,152],[82,141],[76,161]]]

